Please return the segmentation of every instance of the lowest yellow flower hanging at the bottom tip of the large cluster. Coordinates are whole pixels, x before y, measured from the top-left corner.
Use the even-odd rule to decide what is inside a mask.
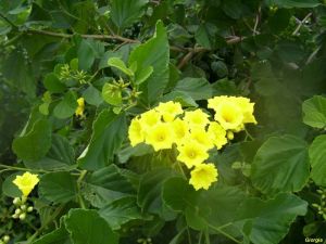
[[[217,181],[217,169],[213,164],[200,164],[190,172],[189,183],[193,185],[196,191],[199,189],[208,190],[211,184]]]

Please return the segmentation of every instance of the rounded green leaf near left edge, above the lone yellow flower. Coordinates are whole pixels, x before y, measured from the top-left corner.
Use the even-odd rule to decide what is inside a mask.
[[[22,137],[15,138],[13,152],[23,160],[38,160],[51,147],[51,125],[47,119],[39,119],[30,130]]]

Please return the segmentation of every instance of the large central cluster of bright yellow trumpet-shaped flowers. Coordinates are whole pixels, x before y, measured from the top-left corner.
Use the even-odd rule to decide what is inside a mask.
[[[145,142],[156,152],[176,145],[177,159],[191,169],[189,183],[196,190],[208,190],[218,175],[214,164],[204,163],[209,150],[222,149],[246,123],[256,123],[252,115],[253,103],[246,98],[215,97],[209,100],[209,107],[215,111],[213,121],[201,108],[184,111],[178,102],[160,103],[131,120],[130,144]]]

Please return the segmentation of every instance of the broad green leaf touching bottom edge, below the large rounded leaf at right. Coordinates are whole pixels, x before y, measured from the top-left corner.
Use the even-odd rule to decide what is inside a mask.
[[[266,202],[248,198],[238,208],[242,232],[253,244],[277,244],[288,233],[298,215],[304,216],[308,203],[293,194],[281,193]]]

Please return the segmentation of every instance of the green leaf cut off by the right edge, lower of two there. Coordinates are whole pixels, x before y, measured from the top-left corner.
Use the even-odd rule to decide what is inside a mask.
[[[314,139],[309,149],[311,163],[311,178],[317,185],[326,187],[326,136],[322,134]]]

